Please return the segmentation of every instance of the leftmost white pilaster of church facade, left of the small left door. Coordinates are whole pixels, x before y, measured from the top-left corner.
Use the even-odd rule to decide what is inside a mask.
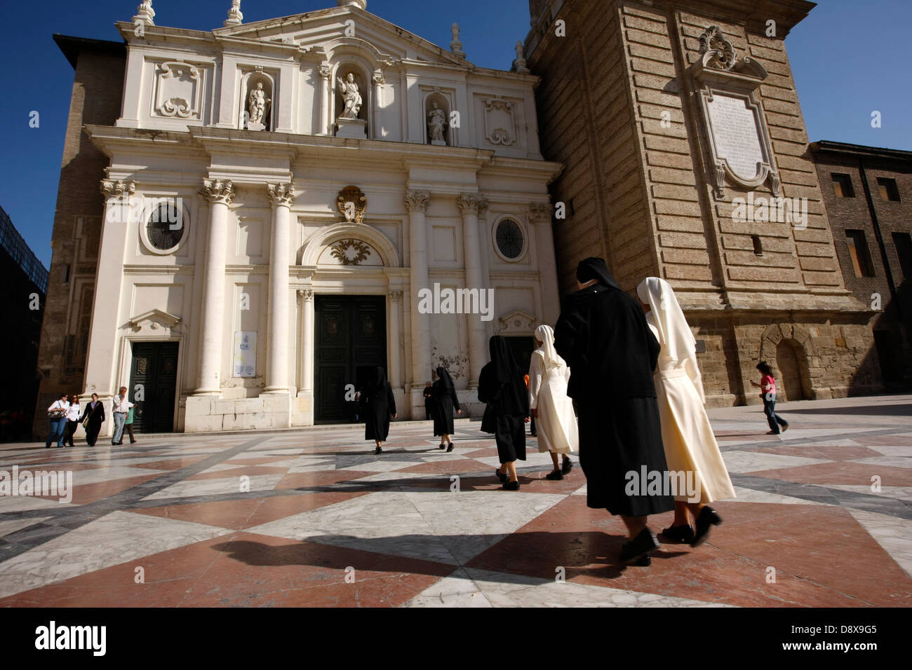
[[[118,259],[123,259],[127,244],[130,201],[136,192],[136,184],[133,181],[101,180],[101,192],[105,196],[105,217],[101,222],[98,258],[107,263],[98,263],[83,395],[91,397],[97,393],[107,399],[117,393],[117,387],[130,381],[125,378],[130,370],[122,371],[124,378],[121,379],[114,378],[114,371],[118,365],[119,304],[123,285],[123,263]],[[140,222],[140,225],[144,223]],[[106,405],[106,411],[109,408]]]

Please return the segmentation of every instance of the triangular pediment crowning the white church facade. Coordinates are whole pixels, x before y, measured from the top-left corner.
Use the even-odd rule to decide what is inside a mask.
[[[326,53],[342,47],[356,47],[366,51],[378,63],[385,64],[413,60],[473,67],[472,63],[450,51],[378,15],[350,5],[226,26],[213,30],[212,34]]]

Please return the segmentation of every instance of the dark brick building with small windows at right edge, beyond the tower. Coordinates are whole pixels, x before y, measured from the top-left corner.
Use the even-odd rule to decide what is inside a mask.
[[[912,382],[912,151],[811,144],[845,286],[872,320],[884,385]]]

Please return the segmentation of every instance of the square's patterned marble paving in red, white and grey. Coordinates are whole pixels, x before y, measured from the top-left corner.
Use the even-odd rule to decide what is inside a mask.
[[[912,604],[912,396],[710,411],[737,498],[703,546],[624,566],[617,517],[578,463],[549,481],[529,438],[521,490],[457,419],[5,445],[0,471],[70,471],[67,503],[0,497],[0,606],[811,606]],[[81,432],[80,432],[81,435]],[[574,456],[576,460],[576,456]],[[650,519],[659,531],[671,514]]]

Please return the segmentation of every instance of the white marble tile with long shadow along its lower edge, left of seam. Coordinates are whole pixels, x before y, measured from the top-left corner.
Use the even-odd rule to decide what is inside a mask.
[[[455,564],[447,546],[434,536],[408,495],[399,491],[368,493],[247,531]]]

